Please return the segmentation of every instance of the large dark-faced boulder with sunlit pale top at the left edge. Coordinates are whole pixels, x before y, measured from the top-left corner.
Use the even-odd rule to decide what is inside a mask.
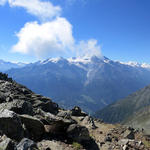
[[[0,130],[11,139],[23,138],[24,130],[18,115],[7,109],[0,110]]]

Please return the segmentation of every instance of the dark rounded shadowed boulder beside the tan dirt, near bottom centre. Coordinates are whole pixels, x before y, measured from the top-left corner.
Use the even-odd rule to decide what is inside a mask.
[[[72,124],[67,129],[67,135],[73,141],[82,142],[90,140],[89,131],[86,127]]]

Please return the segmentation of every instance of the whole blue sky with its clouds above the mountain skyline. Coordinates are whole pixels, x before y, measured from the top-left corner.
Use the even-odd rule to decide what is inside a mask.
[[[149,0],[0,0],[0,59],[150,63]]]

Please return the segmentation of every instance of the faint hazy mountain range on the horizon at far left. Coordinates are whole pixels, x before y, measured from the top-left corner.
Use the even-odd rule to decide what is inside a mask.
[[[0,71],[1,72],[5,72],[12,68],[21,68],[23,66],[25,66],[24,63],[12,63],[12,62],[6,62],[3,60],[0,60]]]

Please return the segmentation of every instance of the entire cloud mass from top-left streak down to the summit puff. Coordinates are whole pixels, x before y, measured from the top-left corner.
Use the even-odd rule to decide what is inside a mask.
[[[60,6],[41,0],[0,0],[0,5],[22,7],[40,22],[27,22],[16,36],[18,42],[12,46],[12,52],[43,57],[101,56],[101,47],[97,40],[76,41],[72,25],[61,17]]]

